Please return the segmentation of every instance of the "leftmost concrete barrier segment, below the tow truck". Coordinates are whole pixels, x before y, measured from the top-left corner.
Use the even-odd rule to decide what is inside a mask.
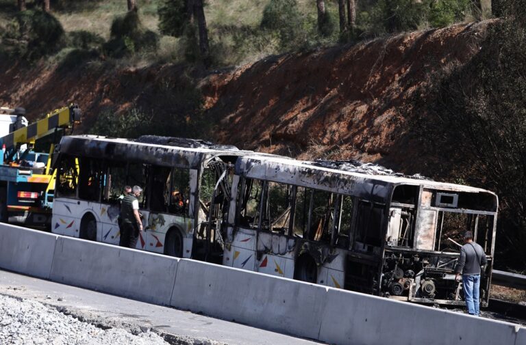
[[[49,278],[58,236],[0,223],[0,267]]]

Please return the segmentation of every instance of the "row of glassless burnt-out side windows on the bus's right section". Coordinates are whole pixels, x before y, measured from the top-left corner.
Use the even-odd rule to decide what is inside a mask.
[[[251,178],[242,179],[238,196],[236,224],[242,227],[349,246],[353,197]],[[339,224],[335,223],[335,208]]]

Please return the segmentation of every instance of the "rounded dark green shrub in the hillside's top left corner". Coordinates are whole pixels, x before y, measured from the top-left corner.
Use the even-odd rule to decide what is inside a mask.
[[[8,55],[38,59],[64,46],[64,29],[51,14],[28,10],[15,14],[2,35],[2,50]]]

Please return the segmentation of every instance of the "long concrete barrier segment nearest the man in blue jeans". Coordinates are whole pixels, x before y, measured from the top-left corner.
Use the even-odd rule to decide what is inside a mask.
[[[508,322],[329,288],[319,340],[353,345],[515,344]]]

